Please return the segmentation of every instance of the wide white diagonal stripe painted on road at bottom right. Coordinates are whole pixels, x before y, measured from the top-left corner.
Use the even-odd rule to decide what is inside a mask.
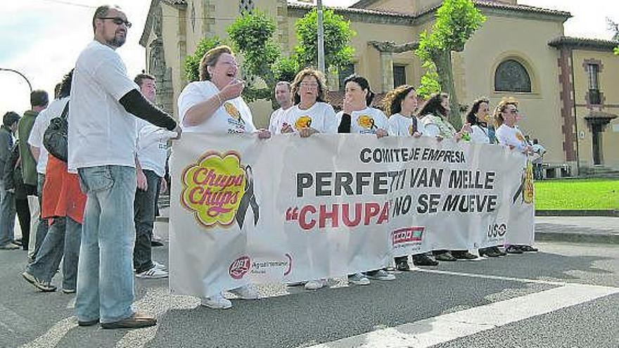
[[[516,280],[516,278],[513,279]],[[619,293],[619,288],[565,284],[551,290],[406,323],[394,328],[346,337],[312,347],[430,347],[616,293]]]

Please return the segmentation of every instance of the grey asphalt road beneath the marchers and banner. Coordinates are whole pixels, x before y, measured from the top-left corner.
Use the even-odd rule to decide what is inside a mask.
[[[619,247],[538,246],[364,287],[263,286],[225,311],[140,279],[136,306],[159,325],[132,331],[78,328],[74,296],[37,292],[19,276],[25,252],[1,251],[0,347],[619,347]]]

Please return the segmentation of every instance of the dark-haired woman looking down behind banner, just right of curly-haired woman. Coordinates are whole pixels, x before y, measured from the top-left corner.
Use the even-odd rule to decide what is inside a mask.
[[[433,94],[423,105],[419,115],[423,117],[423,125],[428,136],[439,138],[454,138],[460,141],[466,134],[471,133],[471,125],[466,123],[460,131],[447,121],[449,113],[449,95],[445,93]],[[457,259],[477,259],[476,255],[466,250],[435,250],[434,255],[439,261],[456,261]]]

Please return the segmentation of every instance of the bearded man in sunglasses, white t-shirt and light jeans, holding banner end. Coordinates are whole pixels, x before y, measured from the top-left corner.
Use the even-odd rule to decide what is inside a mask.
[[[137,314],[133,247],[136,191],[136,117],[181,130],[148,102],[127,76],[115,49],[131,23],[117,6],[100,6],[92,18],[94,40],[79,54],[68,116],[68,167],[87,195],[77,271],[75,310],[79,326],[143,328],[155,318]],[[129,115],[132,114],[132,115]]]

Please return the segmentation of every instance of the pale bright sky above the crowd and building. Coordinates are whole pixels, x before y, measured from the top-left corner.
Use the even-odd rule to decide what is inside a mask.
[[[53,86],[74,65],[92,39],[91,18],[103,0],[12,0],[0,6],[0,67],[23,72],[34,89],[53,93]],[[115,0],[133,27],[127,43],[118,49],[130,76],[144,68],[145,53],[139,46],[150,0]],[[350,6],[355,0],[324,0],[326,6]],[[611,39],[606,17],[619,21],[619,0],[519,0],[519,4],[569,11],[568,36]],[[586,4],[586,6],[584,6]],[[0,115],[8,110],[23,113],[30,108],[29,90],[21,77],[0,72]]]

